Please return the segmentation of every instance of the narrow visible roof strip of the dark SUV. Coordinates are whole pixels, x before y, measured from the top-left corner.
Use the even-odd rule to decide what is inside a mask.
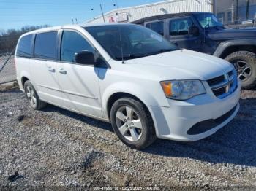
[[[151,17],[141,18],[141,19],[135,20],[131,23],[143,24],[145,22],[152,21],[152,20],[167,19],[170,17],[184,17],[184,16],[188,16],[188,15],[199,15],[199,14],[204,14],[204,13],[207,14],[207,13],[212,13],[212,12],[179,12],[179,13],[171,13],[171,14],[165,14],[165,15],[155,15],[155,16],[151,16]]]

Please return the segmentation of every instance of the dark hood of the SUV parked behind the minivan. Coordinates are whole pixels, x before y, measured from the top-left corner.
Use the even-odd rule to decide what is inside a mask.
[[[256,39],[256,29],[223,29],[208,31],[211,40]]]

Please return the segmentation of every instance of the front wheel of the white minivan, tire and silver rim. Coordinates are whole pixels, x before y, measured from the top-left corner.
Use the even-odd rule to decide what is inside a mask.
[[[110,120],[118,138],[132,149],[144,149],[157,139],[151,114],[133,98],[118,99],[110,110]]]

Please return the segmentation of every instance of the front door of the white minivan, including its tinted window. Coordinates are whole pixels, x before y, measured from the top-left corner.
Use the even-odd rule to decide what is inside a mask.
[[[75,63],[75,53],[82,50],[97,54],[94,47],[78,31],[63,31],[61,62],[57,66],[57,74],[64,106],[76,112],[101,118],[99,69],[94,65]]]

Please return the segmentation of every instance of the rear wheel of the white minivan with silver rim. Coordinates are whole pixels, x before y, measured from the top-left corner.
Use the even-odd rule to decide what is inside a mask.
[[[31,106],[31,108],[39,110],[46,106],[46,103],[39,99],[37,91],[34,89],[34,86],[31,84],[31,82],[29,82],[29,80],[25,82],[24,90],[26,98],[29,101],[29,106]]]

